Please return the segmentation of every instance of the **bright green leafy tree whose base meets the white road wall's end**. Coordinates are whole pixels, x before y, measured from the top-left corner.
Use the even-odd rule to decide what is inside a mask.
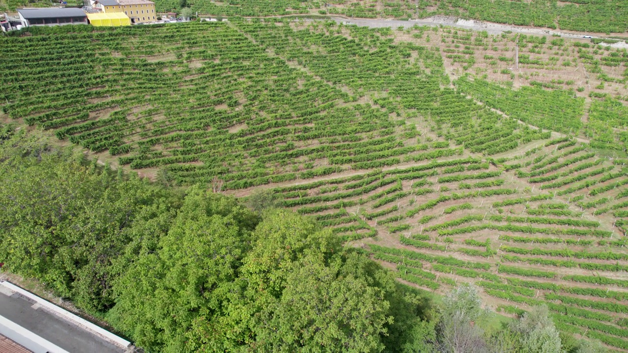
[[[233,198],[190,188],[158,250],[139,256],[116,280],[112,322],[148,350],[198,349],[192,325],[200,313],[210,313],[210,322],[224,314],[255,221]]]

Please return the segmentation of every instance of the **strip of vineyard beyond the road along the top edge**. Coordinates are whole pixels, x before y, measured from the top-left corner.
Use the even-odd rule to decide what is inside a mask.
[[[178,8],[178,1],[155,1],[158,11]],[[352,18],[426,18],[462,16],[496,23],[560,28],[561,30],[623,33],[628,30],[628,5],[622,0],[521,2],[513,0],[190,0],[194,11],[223,16],[278,16],[288,14],[342,15]]]

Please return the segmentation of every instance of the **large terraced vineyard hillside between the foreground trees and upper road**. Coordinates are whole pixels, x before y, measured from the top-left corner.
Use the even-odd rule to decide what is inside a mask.
[[[448,28],[33,28],[0,38],[0,120],[160,183],[271,190],[404,283],[471,281],[506,315],[546,303],[561,331],[625,351],[625,99],[475,70],[534,41],[625,66]]]

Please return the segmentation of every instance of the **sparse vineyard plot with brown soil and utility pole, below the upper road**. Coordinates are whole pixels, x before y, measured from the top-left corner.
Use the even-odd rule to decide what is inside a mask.
[[[624,156],[628,61],[617,41],[414,26],[395,41],[438,45],[451,87],[508,116]],[[518,60],[517,60],[518,59]],[[513,90],[514,89],[514,90]]]

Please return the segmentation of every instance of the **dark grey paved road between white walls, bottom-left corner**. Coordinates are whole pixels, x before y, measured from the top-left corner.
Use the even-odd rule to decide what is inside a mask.
[[[9,296],[0,292],[0,315],[68,352],[125,352],[125,349],[38,308],[17,293]]]

